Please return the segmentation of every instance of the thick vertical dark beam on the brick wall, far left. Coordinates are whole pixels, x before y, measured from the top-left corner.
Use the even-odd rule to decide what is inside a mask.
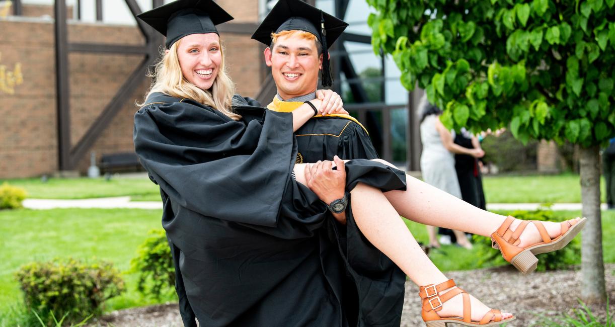
[[[56,69],[56,108],[58,117],[58,168],[70,170],[71,167],[71,120],[68,98],[68,47],[66,33],[66,2],[55,0],[55,69]]]

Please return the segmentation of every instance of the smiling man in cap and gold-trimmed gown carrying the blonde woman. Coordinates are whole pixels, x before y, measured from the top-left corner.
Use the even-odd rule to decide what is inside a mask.
[[[266,64],[276,82],[277,95],[267,106],[290,112],[315,98],[319,71],[322,85],[333,84],[328,47],[347,23],[300,0],[279,0],[252,38],[269,47]],[[297,163],[341,159],[376,159],[365,128],[351,116],[314,116],[295,132]],[[333,190],[330,190],[333,192]],[[335,194],[334,194],[335,195]],[[331,197],[333,215],[346,215],[347,194]],[[338,208],[336,208],[336,206]],[[330,288],[342,293],[341,306],[349,326],[399,326],[405,274],[359,231],[352,215],[347,226],[333,223],[323,228],[328,242],[320,242],[323,270],[332,272]],[[340,220],[340,219],[338,219]],[[330,258],[335,258],[331,262]],[[335,282],[340,278],[339,283]]]

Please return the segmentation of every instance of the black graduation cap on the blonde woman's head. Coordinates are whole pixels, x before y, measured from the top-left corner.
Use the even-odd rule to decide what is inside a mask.
[[[220,34],[215,25],[233,19],[213,0],[177,0],[138,14],[137,17],[167,37],[167,49],[189,34]]]

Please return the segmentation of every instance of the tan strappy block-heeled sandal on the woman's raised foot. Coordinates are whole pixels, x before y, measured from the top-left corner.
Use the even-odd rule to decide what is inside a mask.
[[[579,221],[574,219],[562,221],[560,223],[561,234],[553,239],[549,236],[547,229],[545,229],[540,221],[524,220],[514,231],[510,229],[510,224],[512,224],[513,221],[515,221],[515,218],[512,216],[508,216],[504,220],[502,226],[491,234],[491,244],[493,248],[501,251],[506,261],[510,262],[525,275],[536,270],[538,259],[534,254],[560,250],[568,245],[568,243],[581,232],[581,229],[583,229],[583,226],[585,226],[587,222],[587,218],[579,219]],[[521,248],[518,246],[520,243],[519,237],[529,223],[533,223],[534,226],[536,226],[542,237],[542,242],[527,246],[526,248]]]

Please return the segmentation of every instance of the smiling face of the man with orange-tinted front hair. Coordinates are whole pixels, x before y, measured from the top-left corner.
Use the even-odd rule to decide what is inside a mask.
[[[284,100],[315,92],[321,58],[315,37],[306,38],[302,33],[279,36],[272,49],[265,49],[265,63],[271,67],[277,92]]]

